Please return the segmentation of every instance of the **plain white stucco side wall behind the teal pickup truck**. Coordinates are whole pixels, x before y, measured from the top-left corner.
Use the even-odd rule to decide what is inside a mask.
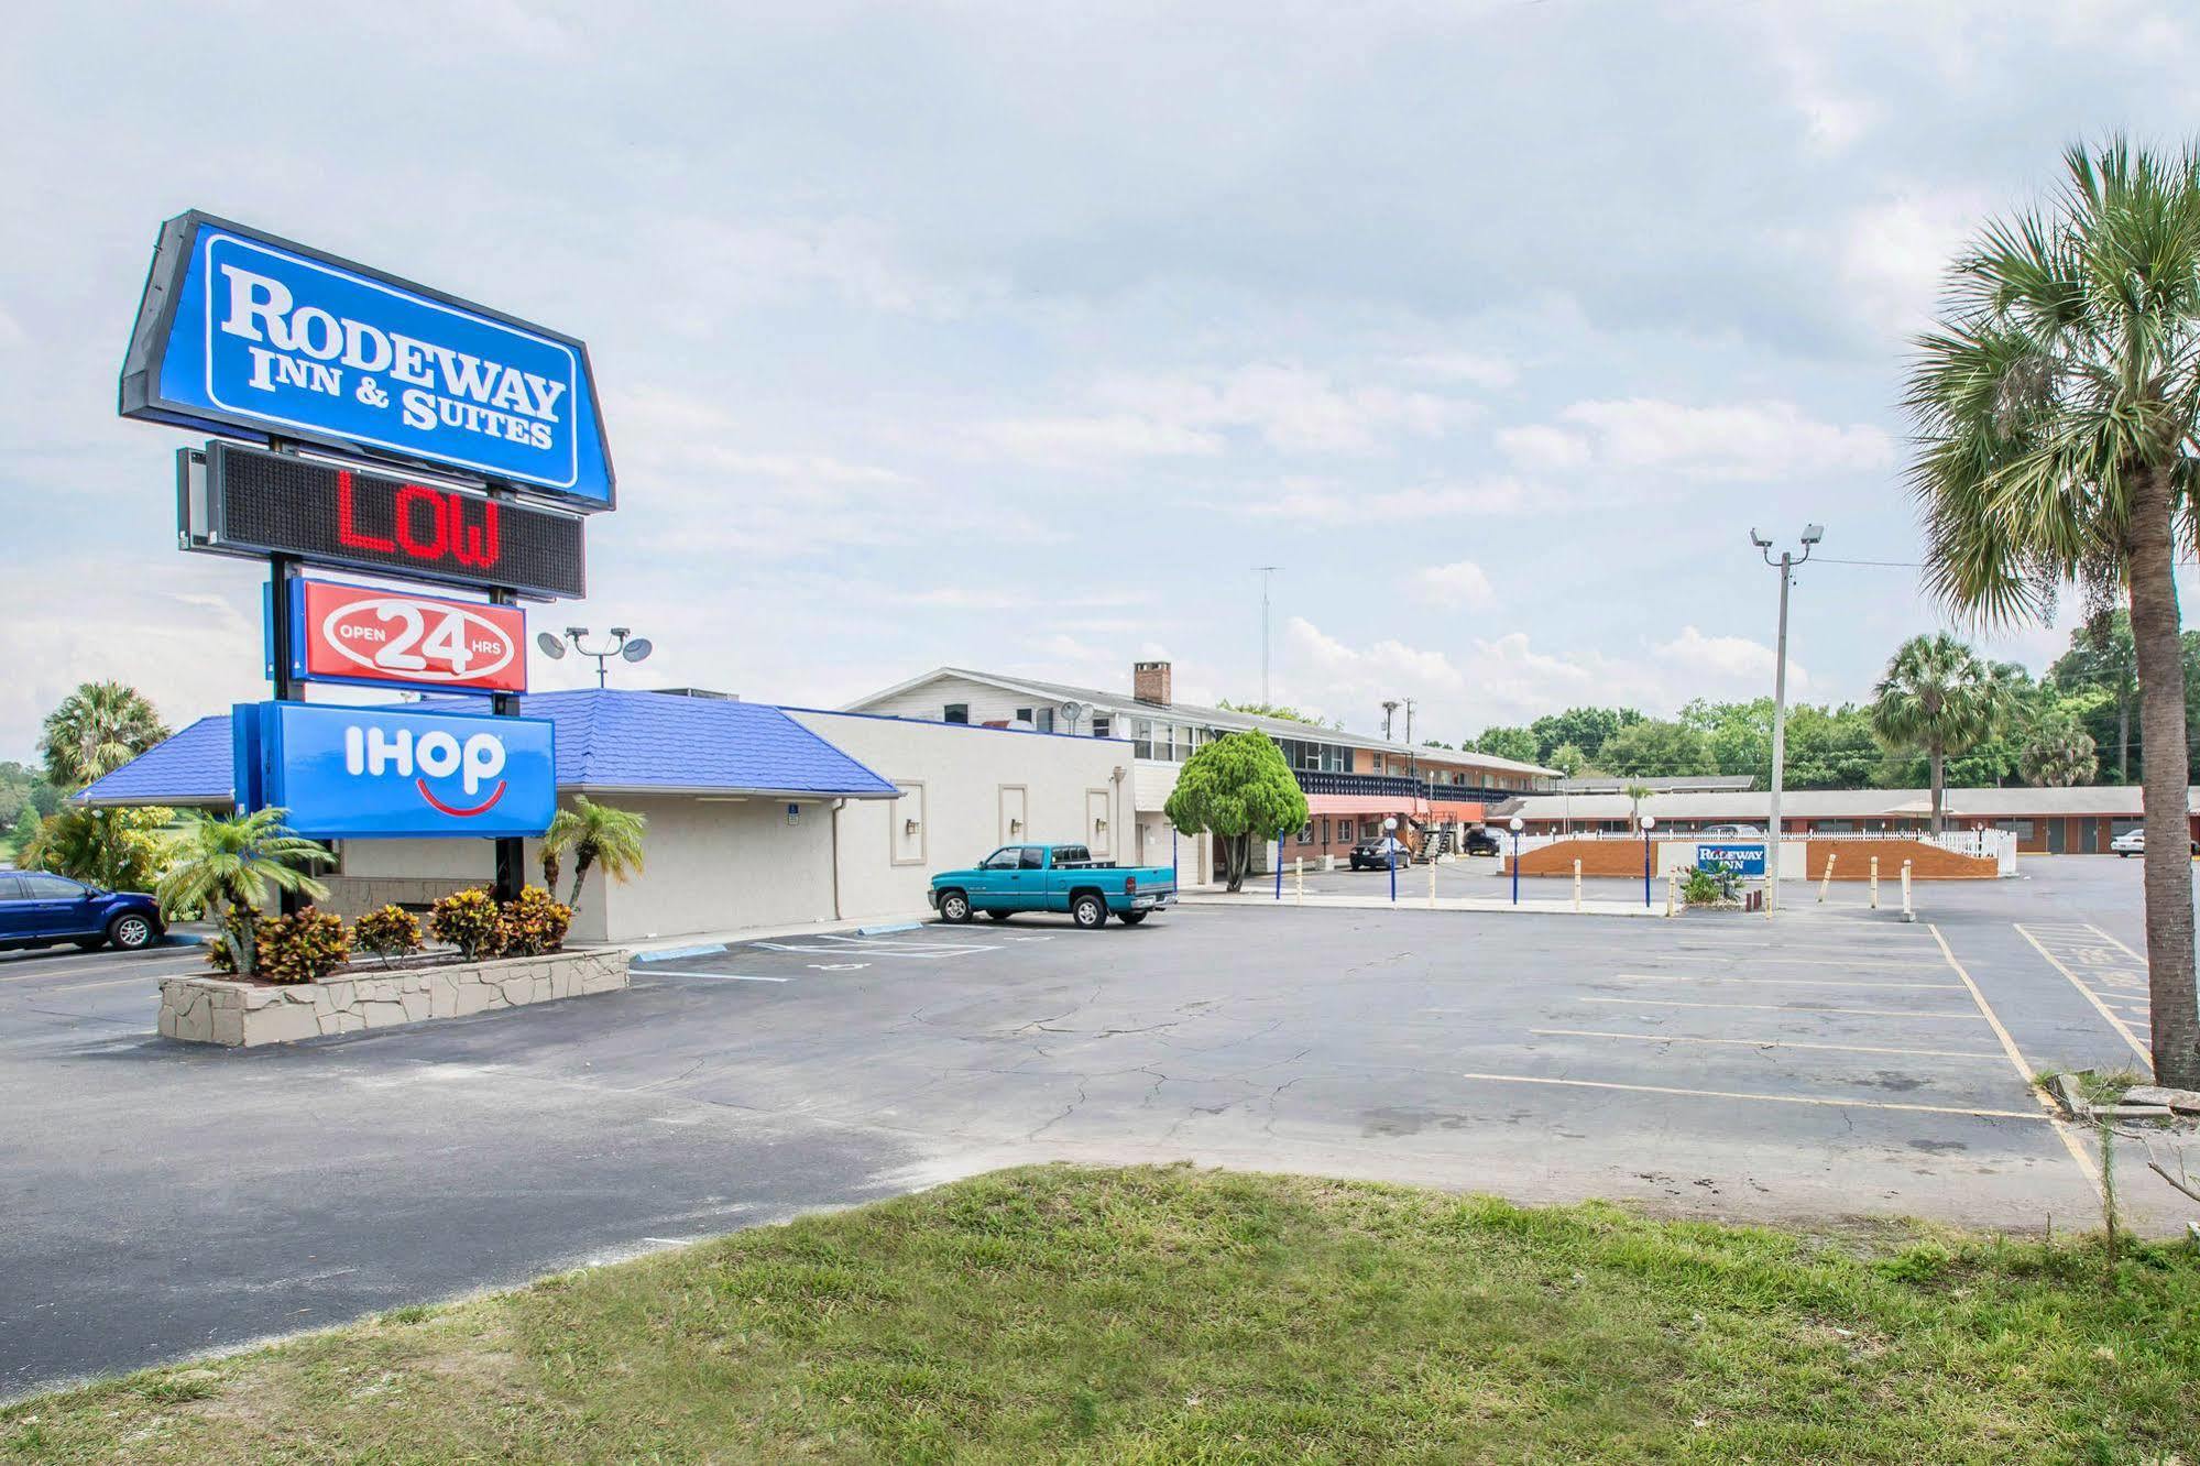
[[[904,788],[900,801],[851,799],[840,810],[847,918],[920,913],[931,872],[972,865],[1014,841],[1080,841],[1096,858],[1135,858],[1126,742],[858,713],[788,715]],[[1023,828],[1010,832],[1005,810],[1019,808]]]

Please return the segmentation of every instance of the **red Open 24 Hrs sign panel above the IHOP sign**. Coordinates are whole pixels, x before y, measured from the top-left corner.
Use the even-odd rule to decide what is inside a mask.
[[[301,581],[293,674],[317,682],[403,682],[438,691],[524,693],[528,619],[517,605]]]

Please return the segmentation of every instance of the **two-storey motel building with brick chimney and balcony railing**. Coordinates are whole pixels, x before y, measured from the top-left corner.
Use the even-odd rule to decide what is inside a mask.
[[[1170,665],[1131,665],[1131,691],[1071,687],[1034,678],[935,667],[917,678],[860,698],[856,713],[948,726],[1034,729],[1076,737],[1129,740],[1129,808],[1135,830],[1122,858],[1133,865],[1170,865],[1181,872],[1221,874],[1210,836],[1177,836],[1164,806],[1177,788],[1177,770],[1197,748],[1254,729],[1283,748],[1285,762],[1307,792],[1311,819],[1287,834],[1283,858],[1322,856],[1338,863],[1355,841],[1375,839],[1384,819],[1397,819],[1397,836],[1415,854],[1456,852],[1461,836],[1489,817],[1492,806],[1547,790],[1558,770],[1485,753],[1408,746],[1283,718],[1256,718],[1228,709],[1177,702]],[[1269,869],[1274,845],[1263,843],[1254,869]]]

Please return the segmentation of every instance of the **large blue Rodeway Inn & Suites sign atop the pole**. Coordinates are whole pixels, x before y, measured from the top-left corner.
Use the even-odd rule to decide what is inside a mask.
[[[121,414],[614,506],[587,346],[196,211],[161,227]]]

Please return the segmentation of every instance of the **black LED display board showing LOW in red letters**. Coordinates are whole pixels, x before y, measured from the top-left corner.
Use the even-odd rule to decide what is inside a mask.
[[[205,493],[187,484],[183,511],[191,548],[585,594],[581,519],[442,484],[209,442]]]

